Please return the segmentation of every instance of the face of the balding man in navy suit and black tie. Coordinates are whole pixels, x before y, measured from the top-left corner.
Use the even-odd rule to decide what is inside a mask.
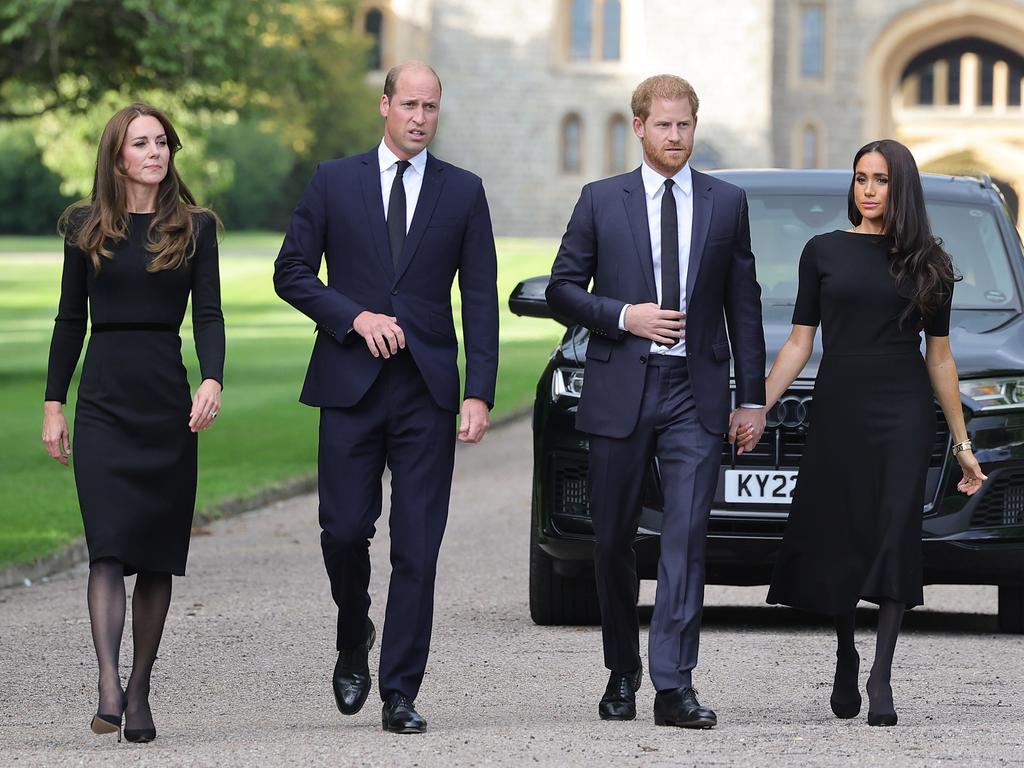
[[[408,69],[398,76],[394,94],[381,96],[384,142],[399,160],[426,148],[437,132],[441,88],[430,70]]]

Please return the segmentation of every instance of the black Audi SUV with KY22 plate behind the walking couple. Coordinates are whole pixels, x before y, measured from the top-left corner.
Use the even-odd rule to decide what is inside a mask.
[[[845,229],[849,171],[721,171],[746,190],[762,288],[769,365],[785,341],[804,244]],[[926,175],[936,234],[964,280],[956,284],[950,342],[968,432],[988,480],[957,493],[958,465],[936,404],[938,430],[922,509],[925,581],[998,585],[1000,630],[1024,632],[1024,253],[998,189],[987,178]],[[520,315],[552,317],[548,278],[520,283],[509,300]],[[558,319],[557,317],[555,319]],[[564,323],[564,322],[563,322]],[[587,485],[587,435],[575,429],[585,381],[587,329],[568,325],[544,369],[534,408],[534,499],[529,608],[537,624],[600,621]],[[819,335],[820,336],[820,335]],[[767,584],[785,527],[790,495],[813,418],[820,341],[800,378],[768,416],[757,447],[722,444],[708,526],[708,583]],[[898,425],[893,425],[898,429]],[[662,527],[656,463],[646,471],[636,539],[641,579],[655,579]]]

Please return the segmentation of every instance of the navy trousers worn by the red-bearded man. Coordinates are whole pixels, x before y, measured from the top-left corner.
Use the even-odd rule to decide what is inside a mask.
[[[722,435],[697,419],[685,358],[648,359],[636,429],[622,439],[590,438],[590,504],[604,664],[612,672],[633,672],[640,667],[633,541],[644,474],[657,458],[665,517],[648,666],[655,689],[669,690],[689,687],[697,663],[705,537]]]

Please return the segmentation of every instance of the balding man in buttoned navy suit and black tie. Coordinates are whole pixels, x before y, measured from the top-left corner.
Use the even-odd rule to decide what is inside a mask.
[[[385,730],[421,733],[415,709],[458,439],[487,430],[498,375],[497,259],[480,179],[427,154],[441,85],[427,65],[387,74],[380,145],[322,163],[274,264],[278,294],[316,323],[301,401],[321,409],[319,522],[338,604],[338,709],[370,691],[370,539],[391,471],[391,581],[380,655]],[[327,259],[328,283],[317,278]],[[460,396],[452,312],[462,294]]]

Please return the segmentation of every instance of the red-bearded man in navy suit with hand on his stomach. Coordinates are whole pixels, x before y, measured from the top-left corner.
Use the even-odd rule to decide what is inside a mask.
[[[632,105],[643,165],[584,187],[547,290],[557,314],[591,332],[575,423],[591,435],[594,562],[611,673],[598,712],[605,720],[636,717],[642,666],[633,542],[641,484],[656,457],[665,514],[648,646],[654,722],[711,728],[717,716],[699,703],[691,680],[705,536],[723,434],[738,432],[751,447],[764,431],[761,290],[742,190],[688,165],[698,106],[689,83],[649,78]],[[736,401],[748,407],[731,418],[730,349]]]

